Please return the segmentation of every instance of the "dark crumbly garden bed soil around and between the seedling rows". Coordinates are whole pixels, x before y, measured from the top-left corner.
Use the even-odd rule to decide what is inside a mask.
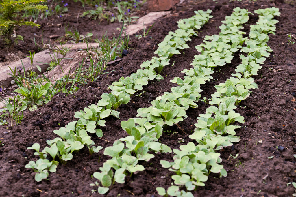
[[[227,177],[219,178],[218,175],[211,174],[206,186],[197,188],[193,193],[194,196],[292,196],[295,188],[292,185],[287,187],[287,183],[296,181],[296,159],[293,157],[296,154],[296,102],[292,101],[296,97],[296,44],[287,44],[287,34],[296,34],[295,6],[284,1],[202,1],[193,4],[191,7],[177,8],[178,16],[157,21],[152,32],[149,32],[151,39],[137,39],[132,36],[128,55],[118,65],[108,68],[116,71],[101,76],[96,83],[81,87],[74,95],[55,95],[44,107],[26,113],[26,118],[19,126],[0,127],[0,137],[4,142],[4,146],[0,148],[0,196],[99,196],[91,193],[92,189],[97,188],[89,184],[96,181],[91,175],[109,159],[103,154],[103,150],[89,157],[88,150],[83,149],[67,165],[59,165],[56,173],[49,174],[48,180],[37,183],[33,171],[25,168],[30,160],[37,160],[37,157],[32,150],[26,148],[36,142],[41,147],[46,146],[46,140],[57,137],[52,132],[54,129],[75,120],[75,111],[96,103],[103,92],[110,92],[108,85],[121,76],[129,76],[140,68],[143,61],[150,60],[157,44],[168,31],[176,30],[178,19],[194,15],[194,10],[212,9],[214,17],[204,25],[198,37],[192,38],[190,48],[171,59],[170,63],[174,62],[173,67],[165,67],[162,73],[164,80],[152,81],[145,86],[146,92],[141,97],[132,97],[133,102],[121,105],[118,108],[120,120],[108,118],[106,127],[102,127],[104,136],[101,139],[93,136],[92,139],[96,145],[107,147],[116,139],[127,136],[121,129],[120,121],[136,117],[138,108],[149,106],[157,96],[170,91],[170,87],[174,85],[169,80],[175,76],[184,76],[180,71],[190,68],[189,64],[197,54],[194,46],[200,44],[205,35],[217,34],[221,20],[231,14],[236,6],[250,11],[270,6],[279,7],[281,17],[277,18],[279,23],[276,35],[270,35],[268,42],[274,52],[266,59],[259,75],[254,77],[259,89],[255,89],[236,110],[245,117],[243,127],[237,129],[240,142],[220,151],[222,164],[228,172]],[[250,24],[254,24],[256,20],[256,16],[250,16]],[[249,28],[247,25],[245,27],[247,31]],[[239,63],[239,55],[235,54],[231,64],[221,67],[221,70],[218,68],[213,74],[215,80],[202,85],[202,97],[210,97],[215,91],[214,85],[229,78]],[[204,113],[207,107],[201,101],[198,105],[196,109],[189,109],[186,112],[189,117],[180,123],[184,132],[176,126],[170,127],[168,130],[172,132],[164,132],[160,141],[172,149],[189,142],[188,135],[194,130],[197,115]],[[184,142],[178,143],[179,138],[184,139]],[[230,154],[234,156],[237,153],[237,159],[230,157]],[[272,156],[273,158],[268,158]],[[158,196],[156,187],[168,188],[173,182],[170,178],[173,173],[161,167],[161,159],[172,160],[172,154],[158,153],[149,162],[141,162],[145,171],[127,176],[126,183],[115,184],[107,196]]]

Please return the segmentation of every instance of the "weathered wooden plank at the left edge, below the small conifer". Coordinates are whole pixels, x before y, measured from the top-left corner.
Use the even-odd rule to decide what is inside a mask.
[[[63,57],[64,56],[62,54],[53,53],[52,51],[49,51],[49,50],[36,53],[33,59],[33,71],[37,72],[37,74],[41,74],[38,71],[36,65],[40,66],[41,72],[44,72],[49,67],[49,63],[51,61],[55,61],[56,58],[63,58]],[[0,68],[0,85],[4,88],[8,87],[10,85],[10,82],[13,80],[11,75],[9,75],[9,74],[12,74],[9,67],[13,71],[16,68],[16,70],[19,70],[20,73],[23,74],[24,68],[25,68],[25,72],[31,69],[30,58],[27,57]]]

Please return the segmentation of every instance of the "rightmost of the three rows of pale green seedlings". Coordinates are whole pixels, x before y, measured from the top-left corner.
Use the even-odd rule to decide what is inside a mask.
[[[194,139],[198,144],[189,142],[181,145],[180,150],[174,149],[173,162],[161,160],[160,163],[165,168],[176,173],[172,176],[174,184],[168,188],[157,188],[158,194],[170,196],[193,196],[191,192],[179,190],[179,187],[186,187],[192,191],[197,186],[204,186],[210,172],[220,173],[226,176],[227,172],[223,165],[220,153],[215,151],[231,146],[232,142],[239,141],[235,136],[235,129],[241,126],[235,122],[244,123],[244,117],[236,113],[236,104],[246,99],[250,95],[250,89],[258,88],[254,83],[252,75],[257,75],[268,57],[268,51],[272,51],[266,42],[269,40],[268,34],[275,31],[275,24],[278,22],[274,16],[280,16],[278,8],[258,9],[259,14],[256,25],[250,25],[250,39],[245,41],[246,47],[241,52],[242,64],[237,66],[237,73],[232,74],[225,83],[215,86],[216,92],[212,94],[210,107],[205,114],[200,114],[195,124],[195,130],[189,138]],[[240,74],[240,73],[242,74]]]

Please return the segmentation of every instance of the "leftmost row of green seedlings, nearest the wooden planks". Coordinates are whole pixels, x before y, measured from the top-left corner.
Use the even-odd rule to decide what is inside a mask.
[[[156,74],[156,71],[161,72],[163,66],[169,64],[169,57],[180,53],[176,51],[188,48],[185,40],[190,40],[190,36],[196,35],[193,29],[200,29],[212,17],[210,13],[211,10],[206,12],[200,10],[196,12],[195,16],[180,20],[178,22],[180,28],[175,33],[170,33],[165,37],[165,41],[157,49],[157,53],[160,53],[159,58],[153,57],[151,61],[146,61],[141,65],[145,69],[139,69],[130,77],[121,78],[119,82],[114,82],[110,86],[112,93],[103,93],[102,99],[99,100],[97,105],[93,104],[88,108],[84,108],[83,111],[75,112],[74,117],[79,118],[79,120],[54,130],[54,133],[59,137],[46,141],[49,147],[45,147],[42,151],[40,151],[38,143],[29,147],[28,149],[36,150],[34,154],[40,157],[36,162],[30,161],[26,165],[27,168],[32,168],[37,172],[35,180],[41,181],[48,176],[49,172],[55,172],[59,162],[65,164],[73,158],[73,153],[78,152],[84,146],[89,148],[90,154],[102,149],[101,146],[95,146],[88,133],[96,133],[98,137],[102,137],[102,130],[96,128],[97,126],[105,126],[105,121],[102,118],[109,115],[119,118],[119,112],[116,111],[119,105],[128,103],[130,96],[134,92],[143,89],[142,86],[148,84],[148,80],[162,79],[163,77]],[[183,34],[179,34],[179,32]],[[165,45],[165,43],[167,44]],[[165,45],[164,48],[162,48],[163,45]],[[51,155],[52,161],[46,159],[48,154]]]

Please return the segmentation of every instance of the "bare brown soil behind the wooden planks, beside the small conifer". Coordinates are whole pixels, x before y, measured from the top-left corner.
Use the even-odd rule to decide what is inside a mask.
[[[16,34],[23,36],[23,41],[19,41],[18,44],[7,48],[4,43],[0,43],[0,62],[7,62],[13,60],[11,57],[7,57],[8,53],[18,53],[29,55],[29,51],[42,51],[47,49],[49,45],[58,45],[60,48],[60,41],[71,43],[72,38],[65,37],[66,30],[74,33],[78,30],[80,35],[86,35],[88,33],[93,33],[92,39],[102,38],[102,36],[107,32],[108,36],[119,35],[120,31],[116,30],[118,27],[121,28],[122,23],[114,22],[108,23],[106,20],[96,19],[90,20],[88,17],[80,17],[83,12],[90,8],[89,6],[83,7],[82,4],[70,0],[65,0],[67,2],[68,11],[59,17],[57,15],[51,15],[47,18],[37,19],[37,23],[40,27],[29,27],[21,26],[16,29]],[[63,5],[62,5],[63,6]],[[146,11],[139,10],[134,15],[141,17],[146,14]],[[78,17],[79,16],[79,17]],[[27,18],[26,20],[30,20]],[[25,55],[19,55],[20,58],[26,57]]]

